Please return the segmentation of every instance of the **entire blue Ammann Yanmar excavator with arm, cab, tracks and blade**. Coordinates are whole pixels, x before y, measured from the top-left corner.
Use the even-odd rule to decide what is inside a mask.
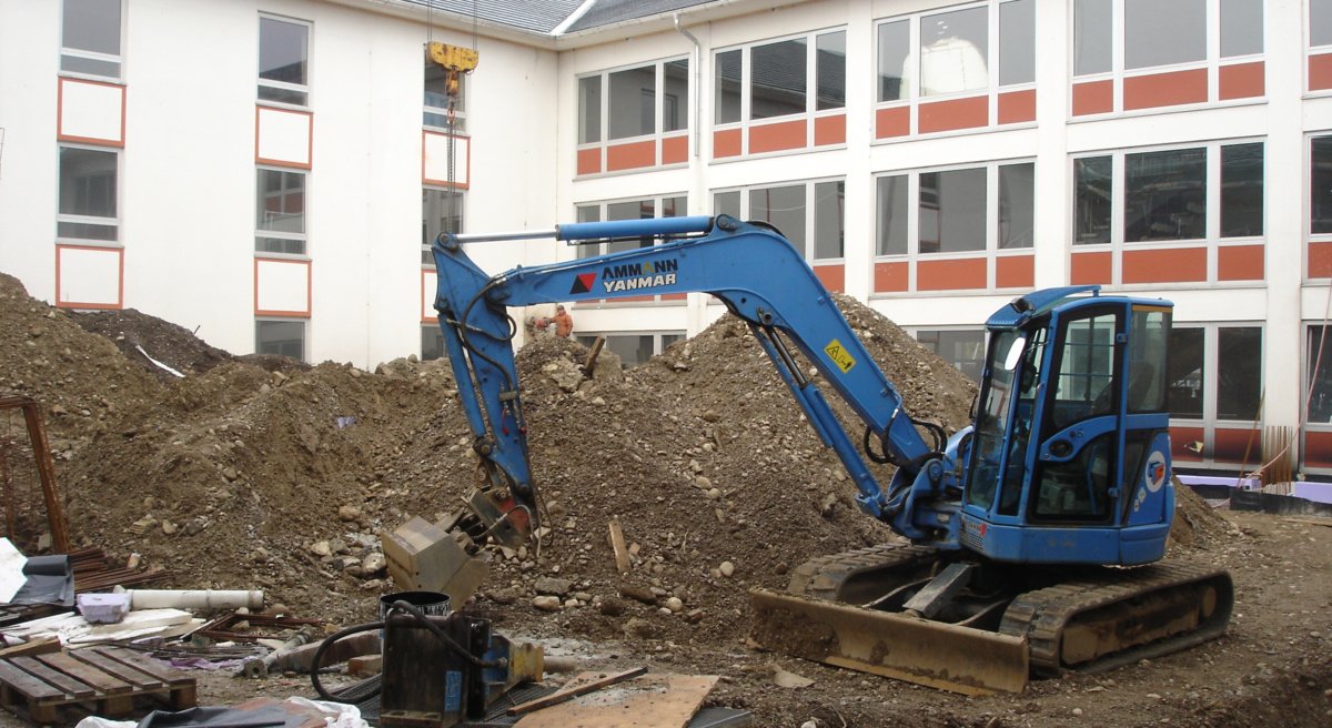
[[[635,248],[500,274],[466,252],[546,237]],[[1164,560],[1175,511],[1167,301],[1071,286],[1004,305],[986,321],[975,419],[950,435],[911,417],[801,250],[763,222],[677,217],[444,234],[433,254],[440,327],[484,470],[456,527],[477,542],[521,543],[538,526],[510,309],[703,291],[749,325],[846,467],[860,510],[904,536],[805,563],[785,592],[751,591],[759,644],[987,693],[1225,631],[1229,575]],[[821,385],[863,422],[859,443]],[[887,486],[870,462],[894,467]]]

